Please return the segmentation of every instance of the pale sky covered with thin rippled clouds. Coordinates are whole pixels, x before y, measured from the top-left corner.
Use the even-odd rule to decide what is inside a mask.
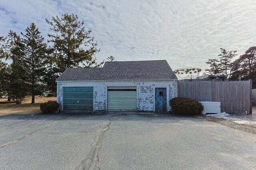
[[[47,38],[45,18],[77,14],[92,28],[100,53],[117,61],[166,59],[174,69],[207,68],[219,48],[242,55],[256,45],[255,0],[0,0],[0,35],[30,23]]]

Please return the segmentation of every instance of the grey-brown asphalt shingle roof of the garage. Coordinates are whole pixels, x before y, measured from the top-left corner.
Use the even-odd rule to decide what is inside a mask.
[[[166,60],[112,61],[102,68],[67,68],[57,81],[177,79]]]

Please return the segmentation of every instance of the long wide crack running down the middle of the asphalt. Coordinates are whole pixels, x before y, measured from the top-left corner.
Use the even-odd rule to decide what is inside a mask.
[[[110,129],[110,125],[112,123],[111,118],[115,116],[122,116],[122,115],[113,115],[108,118],[108,124],[101,129],[101,131],[96,135],[94,138],[94,142],[91,144],[92,149],[90,150],[89,154],[86,156],[85,159],[83,159],[80,163],[80,167],[78,169],[80,170],[95,170],[99,169],[100,170],[100,149],[101,149],[101,143],[104,139],[104,134],[106,131]]]

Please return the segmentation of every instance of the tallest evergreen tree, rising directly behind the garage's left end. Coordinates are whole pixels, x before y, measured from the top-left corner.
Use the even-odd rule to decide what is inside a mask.
[[[86,30],[84,21],[79,21],[75,14],[62,14],[52,17],[52,21],[46,19],[51,26],[48,33],[49,43],[52,43],[52,58],[54,66],[58,73],[62,73],[66,68],[77,67],[98,67],[95,54],[100,50],[97,49],[97,42],[90,34],[92,29]]]

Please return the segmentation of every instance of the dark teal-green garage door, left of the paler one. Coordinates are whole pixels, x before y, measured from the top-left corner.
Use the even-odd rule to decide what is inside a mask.
[[[64,87],[63,111],[92,111],[93,87]]]

